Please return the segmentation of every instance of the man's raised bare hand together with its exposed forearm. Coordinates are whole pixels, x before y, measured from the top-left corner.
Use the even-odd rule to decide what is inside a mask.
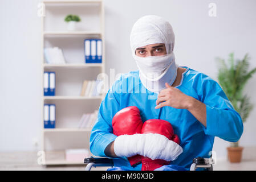
[[[159,93],[155,109],[164,106],[170,106],[176,109],[188,109],[206,127],[206,105],[196,100],[196,98],[187,96],[179,89],[173,88],[167,83],[165,83],[165,86],[166,89]]]

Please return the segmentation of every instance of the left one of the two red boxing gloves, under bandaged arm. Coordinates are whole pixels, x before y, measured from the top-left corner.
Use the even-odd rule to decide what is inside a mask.
[[[129,106],[121,109],[114,115],[112,126],[113,134],[117,136],[141,133],[143,122],[141,121],[140,110],[136,106]],[[141,162],[141,156],[131,156],[128,160],[131,166],[135,166]]]

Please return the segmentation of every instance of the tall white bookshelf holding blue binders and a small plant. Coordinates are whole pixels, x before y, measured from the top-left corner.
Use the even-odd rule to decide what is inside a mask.
[[[103,96],[80,96],[84,80],[96,80],[105,70],[104,7],[102,1],[43,1],[42,17],[42,150],[46,165],[83,164],[68,162],[64,151],[70,148],[89,150],[91,128],[78,128],[84,113],[99,109]],[[81,18],[77,31],[67,31],[64,18],[76,14]],[[84,59],[84,39],[102,40],[102,63],[87,64]],[[47,64],[44,48],[62,49],[66,64]],[[43,73],[56,75],[55,96],[44,96]],[[44,129],[44,104],[56,105],[55,129]],[[92,155],[93,156],[93,155]]]

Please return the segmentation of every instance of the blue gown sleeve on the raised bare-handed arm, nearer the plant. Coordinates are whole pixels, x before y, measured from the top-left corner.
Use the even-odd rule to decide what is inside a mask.
[[[202,76],[197,88],[201,102],[206,105],[206,135],[237,142],[243,133],[243,122],[221,86],[212,78]]]

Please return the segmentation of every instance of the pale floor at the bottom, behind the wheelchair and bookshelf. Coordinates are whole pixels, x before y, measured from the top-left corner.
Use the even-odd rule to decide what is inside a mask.
[[[83,171],[81,166],[42,166],[37,163],[37,152],[0,152],[0,170],[32,170],[32,171]],[[108,167],[92,168],[93,171],[105,171]],[[237,171],[253,170],[256,171],[256,160],[243,160],[241,163],[229,163],[226,160],[217,161],[213,166],[215,171]]]

